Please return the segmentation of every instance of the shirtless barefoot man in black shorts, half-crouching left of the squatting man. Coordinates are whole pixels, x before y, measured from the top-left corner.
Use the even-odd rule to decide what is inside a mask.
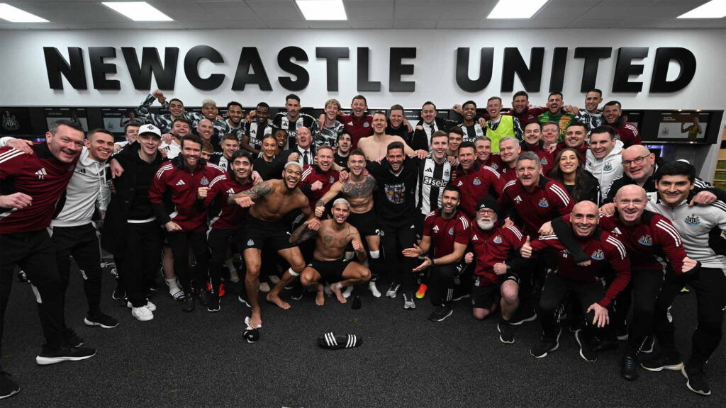
[[[267,294],[267,301],[290,309],[290,304],[282,301],[280,291],[298,277],[305,268],[305,260],[300,248],[290,243],[287,226],[282,221],[285,214],[300,209],[306,216],[311,215],[308,199],[298,189],[298,183],[303,174],[300,164],[295,161],[288,162],[282,171],[282,180],[267,180],[257,184],[251,189],[232,195],[228,203],[237,203],[240,207],[250,208],[245,231],[245,264],[247,276],[245,286],[248,300],[252,307],[250,327],[259,327],[262,324],[258,291],[260,288],[260,266],[262,264],[262,248],[265,242],[270,242],[272,248],[290,264],[282,275],[282,280]],[[320,224],[311,220],[308,228],[317,230]],[[274,259],[267,259],[273,262]]]

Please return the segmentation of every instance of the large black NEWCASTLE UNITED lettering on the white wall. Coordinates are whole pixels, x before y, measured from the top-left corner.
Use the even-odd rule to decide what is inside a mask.
[[[148,90],[151,87],[152,78],[156,81],[159,89],[172,90],[176,81],[176,73],[179,65],[179,48],[166,47],[163,49],[163,62],[160,57],[160,50],[154,47],[143,47],[141,58],[133,47],[121,47],[120,52],[111,46],[91,46],[87,49],[69,46],[68,57],[55,47],[44,47],[43,52],[48,74],[48,83],[51,89],[63,89],[65,80],[73,89],[88,89],[88,73],[84,65],[84,58],[88,58],[91,67],[90,77],[94,89],[118,90],[125,86],[120,81],[109,79],[107,76],[125,69],[131,78],[134,89]],[[372,78],[371,75],[371,49],[369,47],[356,47],[351,50],[348,47],[315,47],[314,58],[325,60],[325,73],[319,70],[306,68],[310,56],[305,49],[298,46],[286,46],[277,53],[277,68],[283,75],[277,77],[283,89],[287,91],[301,91],[306,89],[310,83],[310,76],[324,76],[327,84],[327,91],[338,91],[340,83],[340,60],[348,60],[351,53],[355,53],[356,70],[355,83],[357,91],[380,92],[384,87],[389,92],[413,92],[416,89],[416,81],[411,77],[416,70],[415,59],[417,49],[415,47],[391,47],[388,49],[388,82],[386,78]],[[515,78],[522,83],[523,89],[530,92],[539,92],[546,87],[549,91],[560,91],[563,88],[566,72],[569,76],[581,76],[580,91],[588,91],[595,87],[598,75],[613,78],[611,91],[613,93],[637,93],[643,91],[643,86],[650,93],[676,92],[684,89],[696,75],[696,57],[690,50],[680,47],[659,47],[653,52],[643,46],[623,46],[616,49],[611,47],[532,47],[521,49],[516,47],[505,47],[502,50],[502,65],[494,66],[493,47],[481,49],[470,49],[460,47],[454,50],[452,59],[441,57],[439,62],[453,64],[455,83],[466,92],[484,91],[492,84],[492,74],[498,70],[501,72],[501,83],[498,90],[511,92],[515,88]],[[440,52],[446,55],[446,52]],[[473,57],[478,54],[478,57]],[[546,55],[550,55],[548,59]],[[87,56],[87,57],[86,57]],[[582,73],[572,72],[568,62],[582,60]],[[599,72],[600,62],[614,58],[613,73]],[[632,76],[640,76],[644,73],[644,60],[653,58],[653,72],[650,76],[650,83],[644,84]],[[200,73],[200,62],[205,60],[212,65],[213,73],[205,76]],[[224,73],[222,66],[226,62],[234,62],[235,58],[225,57],[217,49],[211,46],[199,45],[184,54],[183,63],[184,76],[187,81],[196,89],[211,91],[219,89],[227,76],[232,76],[232,90],[244,91],[248,86],[257,86],[261,91],[272,91],[272,83],[265,68],[260,52],[256,47],[242,47],[237,60],[237,67],[233,73]],[[478,64],[476,63],[478,60]],[[527,62],[529,60],[529,62]],[[270,63],[269,61],[267,62]],[[550,78],[544,78],[542,71],[545,65],[550,65]],[[678,75],[669,80],[669,68],[678,65]],[[473,69],[471,69],[473,68]],[[346,76],[350,78],[351,75]],[[441,78],[436,78],[439,81]]]

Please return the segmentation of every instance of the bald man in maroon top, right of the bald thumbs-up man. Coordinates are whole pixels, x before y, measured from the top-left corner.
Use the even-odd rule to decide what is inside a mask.
[[[629,184],[616,192],[615,212],[600,216],[600,228],[616,234],[624,243],[632,266],[631,284],[616,298],[615,311],[611,315],[619,339],[627,340],[620,373],[630,381],[637,379],[637,354],[653,327],[656,297],[663,284],[664,269],[658,256],[665,254],[669,267],[677,275],[690,272],[697,266],[696,261],[686,256],[680,234],[671,221],[645,210],[647,203],[645,189]],[[570,217],[563,216],[552,221],[552,229],[558,237],[571,234],[568,232],[571,230],[568,224]],[[584,251],[568,250],[575,262],[590,261],[590,255]],[[631,301],[633,317],[626,326]]]

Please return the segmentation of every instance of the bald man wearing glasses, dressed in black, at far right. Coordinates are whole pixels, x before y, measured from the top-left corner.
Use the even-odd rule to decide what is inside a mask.
[[[605,188],[603,191],[608,191],[608,195],[603,198],[605,203],[600,207],[600,211],[613,214],[615,210],[615,204],[613,199],[615,198],[616,192],[629,184],[635,184],[645,189],[648,200],[652,203],[656,203],[658,200],[658,189],[656,183],[653,180],[653,174],[656,173],[658,166],[664,164],[664,160],[656,158],[654,153],[648,150],[648,147],[643,144],[635,144],[622,151],[622,165],[623,174],[613,179],[610,189]],[[696,177],[696,187],[693,190],[696,195],[690,201],[690,205],[702,204],[709,205],[714,201],[726,200],[726,193],[721,189],[715,189],[709,186],[709,184],[703,182],[703,180]]]

